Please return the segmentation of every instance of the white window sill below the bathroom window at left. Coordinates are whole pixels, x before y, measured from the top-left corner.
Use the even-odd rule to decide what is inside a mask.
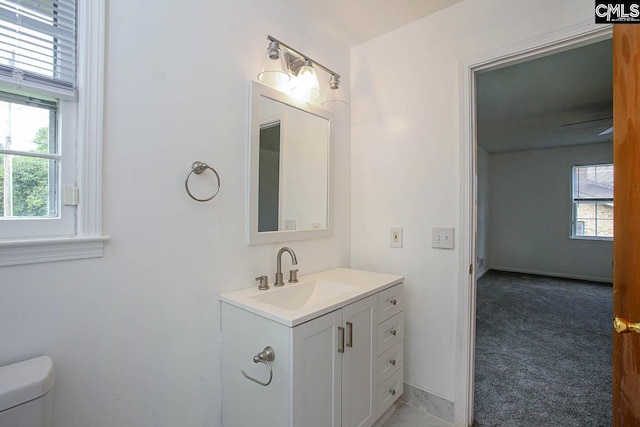
[[[109,236],[0,241],[0,267],[100,258]]]

